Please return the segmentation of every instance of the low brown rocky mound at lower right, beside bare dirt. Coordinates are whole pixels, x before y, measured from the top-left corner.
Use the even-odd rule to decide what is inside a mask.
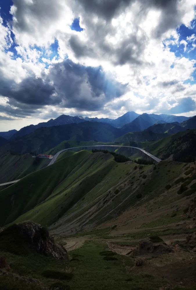
[[[133,256],[163,255],[171,253],[173,250],[163,243],[153,243],[150,241],[139,241],[138,245],[132,251]]]

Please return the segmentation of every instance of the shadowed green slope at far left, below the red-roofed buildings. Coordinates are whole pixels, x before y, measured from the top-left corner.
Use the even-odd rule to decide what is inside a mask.
[[[36,160],[30,154],[12,155],[6,152],[1,155],[0,161],[0,183],[12,181],[39,170],[49,163],[47,158]]]

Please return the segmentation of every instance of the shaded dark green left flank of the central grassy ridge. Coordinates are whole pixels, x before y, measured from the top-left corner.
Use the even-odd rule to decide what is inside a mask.
[[[88,151],[80,151],[77,155],[73,155],[71,162],[70,157],[67,157],[66,164],[64,160],[60,160],[52,166],[27,175],[19,182],[2,190],[0,193],[1,224],[13,221],[22,213],[43,202],[69,175],[75,165],[80,164],[89,154]]]

